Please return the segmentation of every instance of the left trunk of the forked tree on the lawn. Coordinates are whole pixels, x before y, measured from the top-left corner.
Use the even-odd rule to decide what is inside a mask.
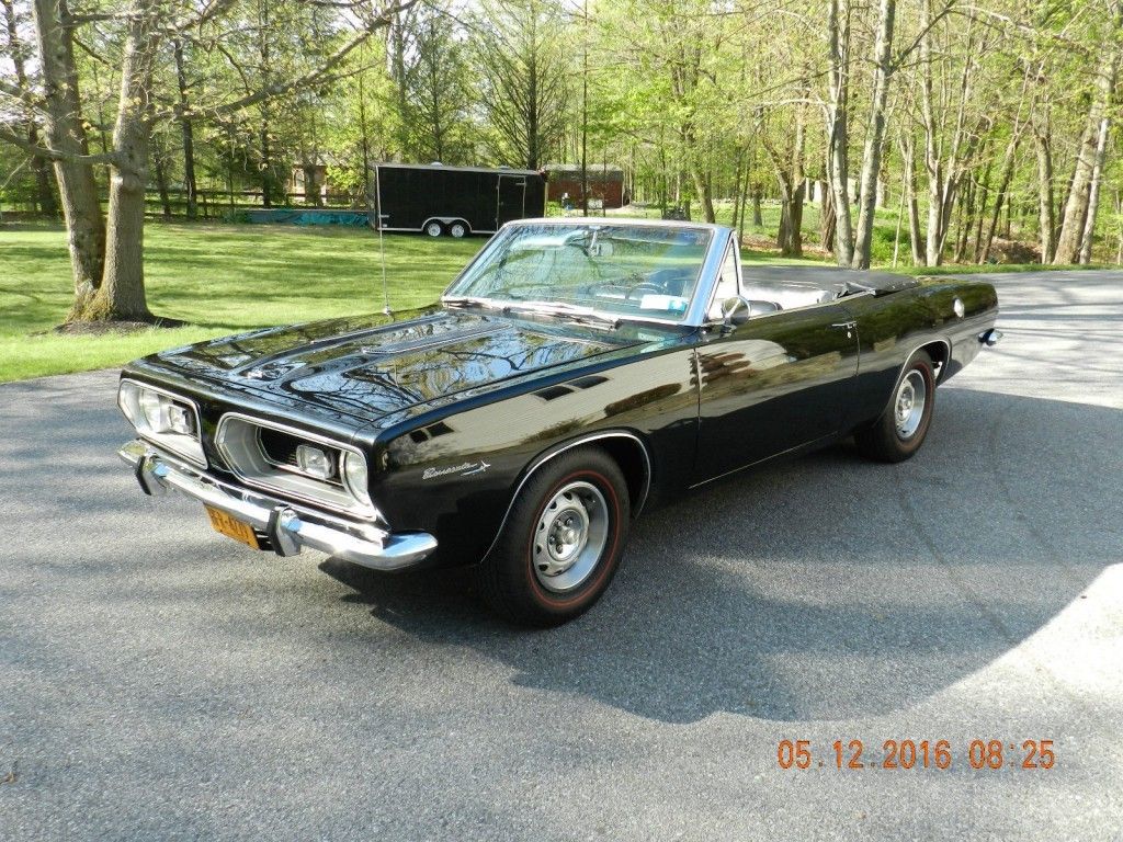
[[[82,122],[82,100],[66,0],[35,0],[31,10],[43,74],[47,147],[70,156],[86,155],[89,144]],[[67,317],[73,319],[93,299],[101,284],[106,226],[98,201],[93,165],[60,158],[54,162],[54,167],[74,277],[74,305]]]

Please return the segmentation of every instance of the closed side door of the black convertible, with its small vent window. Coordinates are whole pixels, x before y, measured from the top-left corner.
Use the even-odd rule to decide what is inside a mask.
[[[732,244],[731,244],[732,248]],[[858,336],[834,303],[752,315],[732,329],[715,317],[697,347],[699,448],[694,483],[747,467],[839,432],[843,393],[856,376]]]

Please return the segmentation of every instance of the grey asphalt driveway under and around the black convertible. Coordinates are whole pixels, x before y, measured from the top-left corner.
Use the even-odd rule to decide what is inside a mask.
[[[113,373],[0,387],[0,839],[1123,839],[1123,275],[996,283],[916,458],[650,513],[548,632],[143,497]]]

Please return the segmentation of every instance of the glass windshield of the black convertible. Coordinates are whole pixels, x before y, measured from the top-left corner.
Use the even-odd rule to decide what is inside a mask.
[[[513,226],[448,289],[449,304],[682,320],[712,234],[652,225]]]

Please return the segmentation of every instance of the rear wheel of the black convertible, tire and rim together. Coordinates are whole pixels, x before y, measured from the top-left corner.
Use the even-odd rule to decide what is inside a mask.
[[[858,450],[876,461],[904,461],[924,443],[934,405],[932,358],[916,351],[905,364],[882,417],[855,433]]]

